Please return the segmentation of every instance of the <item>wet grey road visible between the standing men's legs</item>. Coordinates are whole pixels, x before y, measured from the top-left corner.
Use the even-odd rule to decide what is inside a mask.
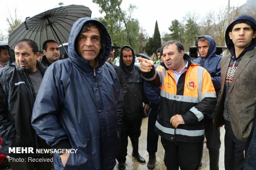
[[[128,155],[126,156],[126,170],[148,170],[147,162],[148,162],[148,153],[147,153],[147,120],[148,118],[143,118],[142,126],[141,126],[141,136],[139,138],[139,153],[145,160],[145,164],[138,163],[135,158],[131,156],[132,154],[132,146],[130,143],[130,139],[128,140]],[[220,140],[221,140],[221,147],[220,147],[220,162],[219,167],[220,170],[224,170],[224,135],[225,129],[224,127],[220,129]],[[204,154],[202,159],[202,167],[198,170],[209,170],[209,152],[206,148],[206,144],[204,144]],[[118,170],[117,168],[118,162],[114,170]],[[158,141],[158,148],[156,152],[156,165],[154,170],[166,170],[166,166],[164,165],[164,148],[161,144],[160,137]]]

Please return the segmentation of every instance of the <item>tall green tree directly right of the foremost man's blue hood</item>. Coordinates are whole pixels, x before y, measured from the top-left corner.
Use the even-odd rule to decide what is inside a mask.
[[[107,27],[112,42],[118,46],[130,45],[135,52],[139,49],[139,21],[132,18],[136,6],[129,5],[127,11],[121,9],[122,0],[92,0],[105,13],[99,20]]]

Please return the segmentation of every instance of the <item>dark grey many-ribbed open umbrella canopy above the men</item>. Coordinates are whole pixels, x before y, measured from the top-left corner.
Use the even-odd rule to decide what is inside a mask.
[[[8,39],[9,47],[23,38],[34,40],[39,50],[46,40],[55,40],[62,44],[69,39],[72,25],[80,18],[91,16],[92,11],[83,5],[60,6],[26,19]]]

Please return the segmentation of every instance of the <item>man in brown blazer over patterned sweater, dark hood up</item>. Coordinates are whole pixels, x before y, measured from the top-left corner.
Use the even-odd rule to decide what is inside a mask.
[[[237,17],[227,28],[230,54],[220,61],[221,88],[212,117],[215,128],[225,124],[225,170],[242,170],[244,149],[256,105],[256,20]]]

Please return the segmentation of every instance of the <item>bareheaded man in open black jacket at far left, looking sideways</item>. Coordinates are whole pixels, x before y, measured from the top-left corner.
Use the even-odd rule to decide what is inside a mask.
[[[36,60],[40,54],[32,40],[16,42],[14,53],[16,63],[0,70],[0,152],[10,156],[12,170],[51,170],[50,161],[28,160],[41,156],[50,158],[50,154],[36,153],[36,149],[49,149],[49,146],[31,126],[34,101],[46,68]],[[28,153],[21,151],[21,154],[9,150],[17,147],[33,150]]]

